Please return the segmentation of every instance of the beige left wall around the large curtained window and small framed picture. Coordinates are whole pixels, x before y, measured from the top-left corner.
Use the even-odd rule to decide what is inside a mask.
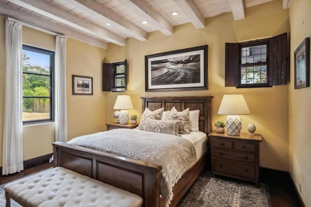
[[[0,16],[0,166],[2,166],[3,111],[5,87],[4,17]],[[23,27],[23,44],[55,51],[55,36]],[[67,40],[67,104],[68,138],[104,130],[105,97],[101,91],[102,63],[105,50]],[[92,96],[72,95],[71,75],[93,77]],[[45,123],[23,127],[24,160],[52,153],[55,124]]]

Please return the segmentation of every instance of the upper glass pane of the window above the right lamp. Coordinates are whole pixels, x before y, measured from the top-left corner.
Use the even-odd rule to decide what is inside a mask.
[[[267,45],[244,47],[241,49],[241,63],[258,63],[267,60]]]

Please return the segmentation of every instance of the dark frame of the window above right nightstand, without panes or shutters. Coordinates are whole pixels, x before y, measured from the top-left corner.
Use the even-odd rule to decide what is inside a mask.
[[[245,63],[242,64],[242,48],[245,47],[254,47],[266,45],[266,62],[256,62],[256,63]],[[251,42],[242,42],[239,43],[239,88],[248,88],[248,87],[271,87],[270,86],[270,68],[269,68],[269,54],[270,54],[270,44],[269,38],[255,40]],[[255,84],[242,84],[242,68],[244,67],[256,67],[256,66],[266,66],[266,83],[255,83]]]

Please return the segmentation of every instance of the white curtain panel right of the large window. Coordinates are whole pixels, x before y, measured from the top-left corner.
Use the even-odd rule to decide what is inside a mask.
[[[55,140],[67,142],[66,42],[56,35],[55,52]]]

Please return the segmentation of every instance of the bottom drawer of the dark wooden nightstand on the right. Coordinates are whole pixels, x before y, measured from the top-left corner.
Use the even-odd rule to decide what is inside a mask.
[[[251,179],[256,178],[255,165],[230,160],[214,159],[214,173],[229,173]]]

